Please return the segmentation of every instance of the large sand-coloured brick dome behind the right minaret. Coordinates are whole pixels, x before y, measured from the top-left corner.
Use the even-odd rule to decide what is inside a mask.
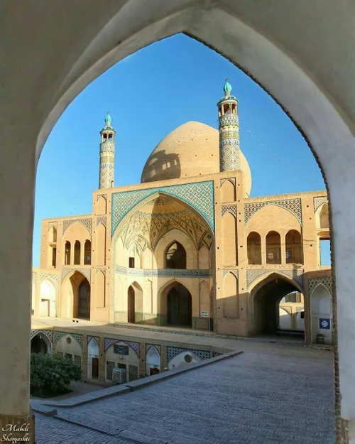
[[[241,153],[244,192],[249,197],[251,171]],[[189,121],[171,131],[148,157],[141,183],[219,173],[219,132],[197,121]]]

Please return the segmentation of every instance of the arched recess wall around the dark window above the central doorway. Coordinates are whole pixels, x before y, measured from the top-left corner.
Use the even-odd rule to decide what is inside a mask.
[[[184,232],[180,231],[180,229],[171,229],[170,232],[167,232],[160,238],[157,246],[154,251],[154,259],[155,264],[158,269],[163,269],[165,266],[165,251],[170,244],[174,241],[180,242],[182,247],[185,248],[186,251],[186,269],[197,269],[198,268],[198,259],[197,259],[197,249],[195,245],[192,243],[190,237],[187,236]],[[154,264],[153,264],[154,266]]]

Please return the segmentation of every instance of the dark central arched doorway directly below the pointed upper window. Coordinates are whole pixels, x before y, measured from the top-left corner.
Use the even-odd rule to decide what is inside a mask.
[[[192,296],[181,283],[167,294],[167,323],[175,327],[192,327]]]

